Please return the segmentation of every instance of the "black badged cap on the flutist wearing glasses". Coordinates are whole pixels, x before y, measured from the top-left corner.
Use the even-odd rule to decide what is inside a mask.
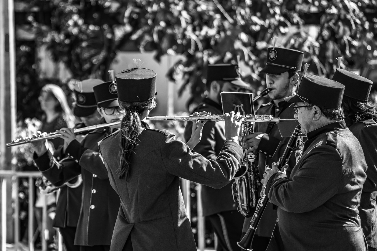
[[[114,100],[118,99],[118,91],[116,90],[116,84],[113,83],[113,81],[95,86],[93,87],[93,90],[98,107],[106,108]]]

